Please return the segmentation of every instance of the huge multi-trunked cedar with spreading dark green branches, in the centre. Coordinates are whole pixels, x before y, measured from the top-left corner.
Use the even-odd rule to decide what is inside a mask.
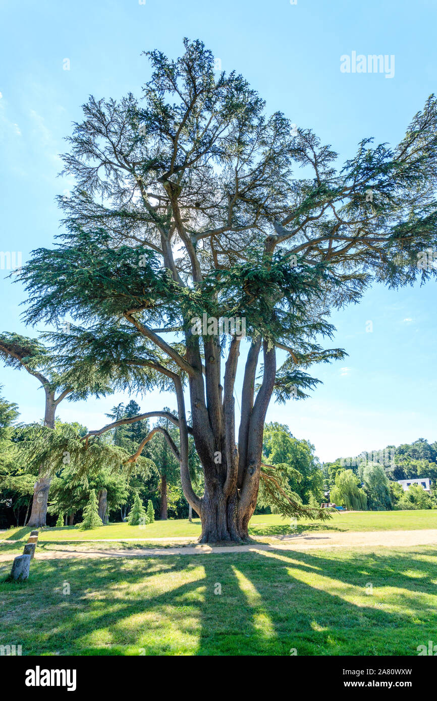
[[[241,540],[271,397],[303,398],[316,384],[304,371],[344,355],[318,343],[332,335],[330,308],[357,301],[372,280],[396,287],[437,272],[417,265],[437,245],[436,100],[398,147],[365,138],[336,170],[337,154],[310,130],[293,130],[281,113],[266,117],[242,76],[216,74],[201,41],[184,47],[176,61],[147,53],[142,102],[131,93],[90,97],[64,159],[76,179],[72,196],[60,198],[67,233],[57,249],[34,252],[20,279],[29,322],[66,313],[78,322],[52,336],[62,370],[98,367],[121,387],[174,390],[175,456],[201,540]],[[301,166],[312,177],[297,179]],[[212,322],[200,322],[199,334],[203,314]],[[237,317],[248,346],[232,325],[230,334],[218,327]],[[189,475],[189,432],[203,496]]]

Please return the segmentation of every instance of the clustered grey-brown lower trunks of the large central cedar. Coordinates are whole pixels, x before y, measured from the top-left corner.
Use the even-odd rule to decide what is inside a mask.
[[[215,353],[210,341],[205,344],[206,355],[208,343],[210,362],[211,358],[215,358],[218,365],[219,354]],[[275,349],[269,348],[267,342],[262,339],[258,338],[252,342],[243,379],[241,423],[236,445],[233,393],[239,355],[238,343],[238,339],[235,338],[231,341],[221,402],[214,402],[215,388],[219,390],[219,397],[221,394],[220,368],[217,368],[217,372],[208,372],[206,361],[206,404],[197,398],[203,394],[203,377],[189,379],[194,443],[203,465],[205,493],[201,499],[198,498],[197,503],[189,498],[189,494],[185,496],[201,517],[200,543],[247,541],[248,524],[257,503],[264,421],[274,388],[276,353]],[[264,355],[264,373],[262,385],[254,398],[255,372],[261,348]],[[190,360],[194,364],[195,358]],[[217,454],[218,462],[215,460]]]

